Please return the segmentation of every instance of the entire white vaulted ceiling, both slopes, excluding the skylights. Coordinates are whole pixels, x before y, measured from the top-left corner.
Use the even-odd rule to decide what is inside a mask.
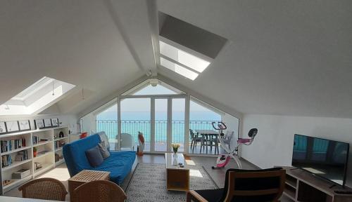
[[[229,40],[195,81],[157,69],[172,81],[243,113],[352,118],[352,1],[1,1],[0,103],[49,76],[88,90],[54,107],[78,114],[155,71],[151,11]]]

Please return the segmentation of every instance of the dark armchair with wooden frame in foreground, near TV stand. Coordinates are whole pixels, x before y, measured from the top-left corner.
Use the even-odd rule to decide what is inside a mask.
[[[187,192],[187,201],[276,202],[284,191],[285,177],[286,171],[282,168],[229,169],[224,189],[191,190]]]

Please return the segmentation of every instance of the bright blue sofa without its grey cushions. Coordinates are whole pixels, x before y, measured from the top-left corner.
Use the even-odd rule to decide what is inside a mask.
[[[91,149],[101,142],[98,134],[90,135],[82,140],[77,140],[63,146],[63,157],[70,176],[80,173],[81,170],[100,170],[110,173],[110,180],[121,184],[126,175],[130,173],[134,160],[135,152],[110,151],[111,156],[104,159],[100,166],[94,168],[90,166],[85,151]]]

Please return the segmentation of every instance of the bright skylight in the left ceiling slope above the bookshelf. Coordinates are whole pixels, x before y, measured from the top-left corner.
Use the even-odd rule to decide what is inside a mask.
[[[43,77],[0,105],[0,115],[29,115],[49,107],[75,85]]]

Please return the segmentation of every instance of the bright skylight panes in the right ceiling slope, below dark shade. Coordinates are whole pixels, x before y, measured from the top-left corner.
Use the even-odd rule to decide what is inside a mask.
[[[175,43],[170,42],[170,40],[162,39],[163,41],[159,41],[161,66],[194,81],[210,65],[210,62],[171,45]],[[189,50],[189,52],[192,51]]]

